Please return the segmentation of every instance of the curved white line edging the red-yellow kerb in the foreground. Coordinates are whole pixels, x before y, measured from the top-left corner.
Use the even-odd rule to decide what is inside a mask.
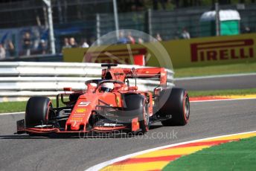
[[[254,133],[254,132],[256,132],[256,131],[241,132],[241,133],[231,134],[231,135],[221,135],[221,136],[211,137],[211,138],[202,138],[202,139],[193,140],[193,141],[186,141],[186,142],[182,142],[182,143],[174,143],[174,144],[170,144],[170,145],[167,145],[167,146],[159,146],[159,147],[156,147],[156,148],[153,148],[153,149],[146,149],[146,150],[141,151],[141,152],[135,152],[135,153],[132,153],[132,154],[129,154],[129,155],[124,155],[124,156],[119,157],[119,158],[114,158],[112,160],[105,161],[105,162],[103,162],[101,164],[97,164],[97,165],[95,165],[93,167],[89,167],[86,171],[101,170],[101,169],[103,169],[103,167],[109,166],[110,164],[114,164],[114,163],[116,163],[118,161],[123,161],[123,160],[125,160],[127,158],[132,158],[135,155],[142,155],[144,153],[153,152],[153,151],[156,151],[156,150],[159,150],[159,149],[165,149],[165,148],[169,148],[169,147],[172,147],[172,146],[179,146],[179,145],[183,145],[183,144],[187,144],[187,143],[195,143],[195,142],[198,142],[198,141],[211,140],[211,139],[214,139],[214,138],[223,138],[223,137],[228,137],[228,136],[232,136],[232,135],[243,135],[243,134],[249,134],[249,133]]]

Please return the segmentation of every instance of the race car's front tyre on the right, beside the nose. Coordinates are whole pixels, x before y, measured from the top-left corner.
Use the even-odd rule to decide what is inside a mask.
[[[144,97],[140,94],[126,94],[125,103],[127,106],[126,114],[138,117],[141,132],[144,134],[149,130],[149,114]]]

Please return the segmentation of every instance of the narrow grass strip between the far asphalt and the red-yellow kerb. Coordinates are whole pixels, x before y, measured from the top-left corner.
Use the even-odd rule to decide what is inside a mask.
[[[246,95],[256,94],[256,88],[233,89],[233,90],[213,90],[213,91],[188,91],[190,97],[200,96],[220,96],[220,95]]]

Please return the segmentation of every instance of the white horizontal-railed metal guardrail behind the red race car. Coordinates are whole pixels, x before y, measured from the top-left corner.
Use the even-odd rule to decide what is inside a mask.
[[[120,68],[141,68],[118,65]],[[86,89],[85,81],[101,77],[102,67],[95,63],[75,62],[0,62],[0,98],[54,96],[64,87]],[[135,85],[135,80],[130,80]],[[153,90],[156,80],[137,80],[140,90]],[[173,85],[173,71],[167,70],[167,86]],[[1,101],[1,100],[0,100]]]

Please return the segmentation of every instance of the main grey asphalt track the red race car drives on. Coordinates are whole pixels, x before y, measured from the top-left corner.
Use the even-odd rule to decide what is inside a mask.
[[[24,114],[0,115],[0,170],[85,170],[103,161],[157,146],[255,131],[255,104],[256,100],[191,103],[187,126],[163,127],[158,123],[147,135],[132,138],[13,135],[16,120]]]

